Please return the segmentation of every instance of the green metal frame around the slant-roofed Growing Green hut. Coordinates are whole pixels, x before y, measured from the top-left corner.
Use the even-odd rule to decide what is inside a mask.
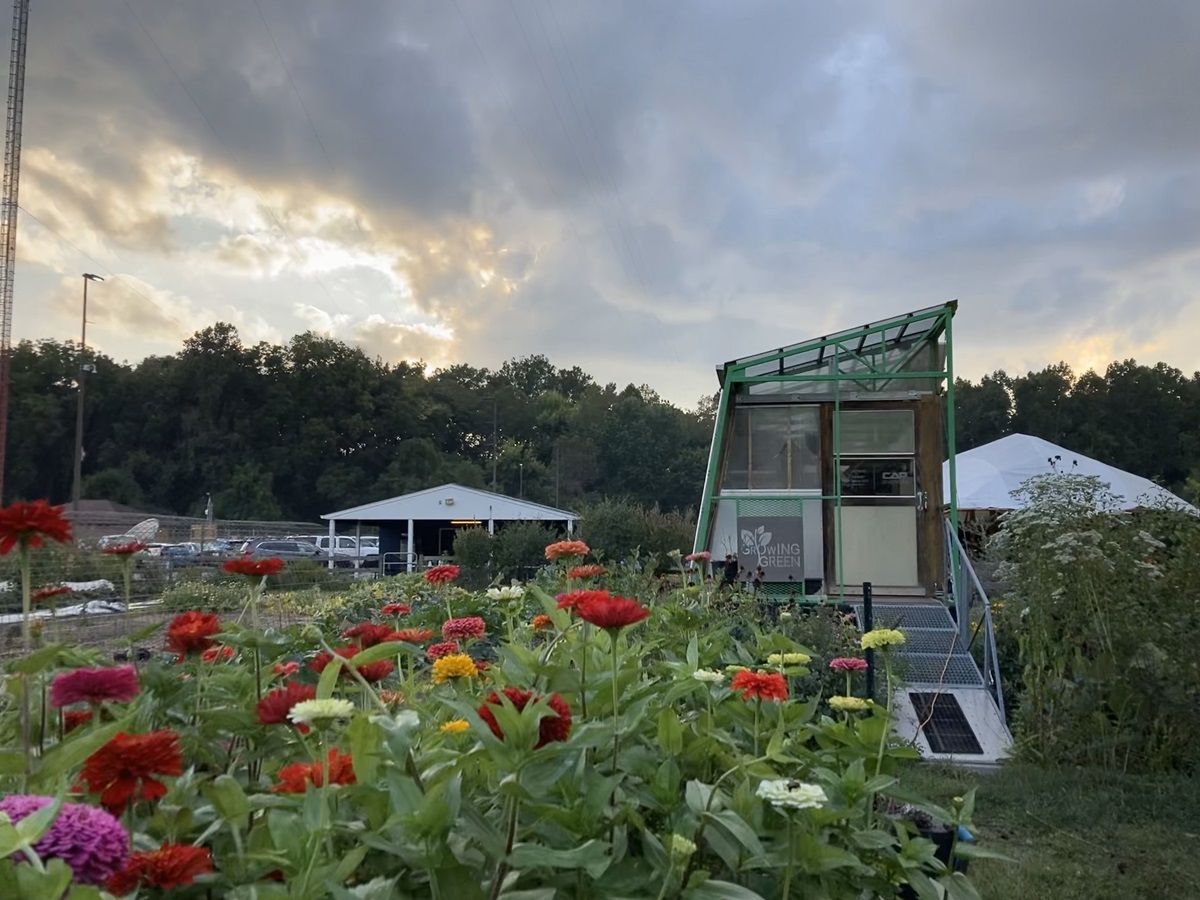
[[[730,410],[733,408],[733,394],[738,385],[752,384],[787,384],[787,383],[827,383],[833,388],[833,444],[834,444],[834,472],[841,467],[841,403],[842,384],[853,383],[868,392],[884,390],[893,382],[926,380],[935,385],[944,384],[946,396],[946,449],[949,460],[949,515],[950,522],[958,522],[958,478],[955,467],[955,400],[954,400],[954,347],[953,347],[953,320],[958,310],[958,301],[931,306],[925,310],[911,312],[905,316],[896,316],[881,322],[863,325],[835,335],[828,335],[814,341],[781,347],[776,350],[768,350],[754,356],[726,362],[718,371],[721,383],[720,401],[716,407],[716,418],[713,424],[713,442],[708,451],[708,470],[704,475],[704,493],[701,498],[700,512],[696,523],[695,551],[704,550],[712,536],[713,518],[716,514],[716,503],[721,499],[721,469],[725,457],[725,445],[727,442]],[[913,325],[923,325],[916,336],[906,335]],[[889,338],[888,334],[899,329],[895,336]],[[937,347],[944,341],[944,358],[937,354]],[[856,346],[857,344],[857,346]],[[936,371],[908,372],[905,371],[920,350],[934,348],[934,358],[941,361],[941,367]],[[888,360],[888,352],[901,348],[904,353],[896,359]],[[826,350],[830,354],[826,354]],[[818,352],[811,359],[796,360],[798,356]],[[847,372],[842,370],[842,360],[858,360],[868,371]],[[796,360],[788,368],[787,361]],[[778,362],[779,371],[769,374],[750,374],[750,370],[761,370],[763,365]],[[832,371],[814,371],[827,370]],[[859,400],[856,397],[856,400]],[[829,402],[828,395],[812,395],[812,402]],[[742,494],[734,494],[742,497]],[[751,494],[761,499],[794,499],[797,494],[786,492],[766,491]],[[832,497],[806,494],[805,499],[821,499],[834,502],[835,515],[835,541],[836,541],[836,568],[835,581],[839,586],[841,599],[845,598],[845,583],[842,578],[842,535],[841,535],[841,479],[834,478],[834,493]],[[955,565],[953,572],[955,590],[959,584],[959,571]]]

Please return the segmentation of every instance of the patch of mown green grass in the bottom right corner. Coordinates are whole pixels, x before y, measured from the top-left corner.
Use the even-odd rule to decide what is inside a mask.
[[[984,900],[1200,898],[1200,779],[1020,766],[994,774],[918,767],[906,786],[946,803],[971,787]]]

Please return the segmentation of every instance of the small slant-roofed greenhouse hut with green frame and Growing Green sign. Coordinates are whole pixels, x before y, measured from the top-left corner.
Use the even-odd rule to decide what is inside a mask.
[[[846,599],[865,582],[896,596],[942,594],[955,310],[721,366],[696,550],[737,557],[781,600]]]

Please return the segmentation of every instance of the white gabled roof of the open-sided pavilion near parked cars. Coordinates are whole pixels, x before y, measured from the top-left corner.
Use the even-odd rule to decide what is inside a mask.
[[[462,485],[442,485],[338,512],[328,512],[322,518],[335,522],[401,522],[409,518],[416,522],[488,520],[574,522],[578,515],[491,491],[479,491]]]

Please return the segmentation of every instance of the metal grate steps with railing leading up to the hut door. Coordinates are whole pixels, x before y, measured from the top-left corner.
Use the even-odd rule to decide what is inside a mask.
[[[906,638],[893,656],[900,685],[893,709],[900,736],[926,760],[989,766],[1003,758],[1013,742],[991,605],[948,520],[946,534],[946,583],[953,606],[942,600],[877,598],[874,625],[899,629]],[[851,607],[862,626],[863,601]],[[982,667],[972,655],[976,646],[983,649]]]

